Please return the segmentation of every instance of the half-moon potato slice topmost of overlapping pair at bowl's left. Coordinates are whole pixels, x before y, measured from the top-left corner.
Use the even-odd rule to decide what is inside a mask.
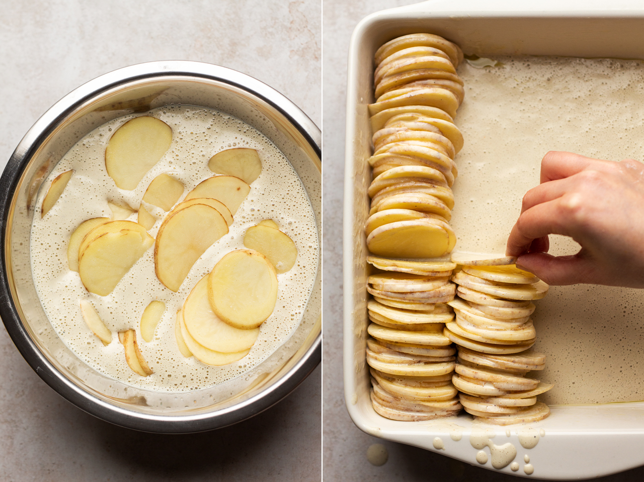
[[[81,253],[79,274],[82,284],[90,293],[107,296],[154,242],[145,231],[123,229],[100,235]]]

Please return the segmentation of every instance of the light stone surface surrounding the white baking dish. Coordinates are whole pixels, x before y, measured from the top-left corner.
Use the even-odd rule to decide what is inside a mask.
[[[413,3],[412,0],[354,0],[350,3],[323,0],[323,476],[328,482],[516,481],[514,476],[475,467],[422,448],[369,436],[355,427],[345,407],[342,380],[342,207],[348,46],[355,25],[366,15]],[[367,449],[374,443],[383,443],[389,453],[388,461],[381,467],[375,467],[367,459]],[[639,467],[593,480],[636,481],[643,474],[644,467]]]

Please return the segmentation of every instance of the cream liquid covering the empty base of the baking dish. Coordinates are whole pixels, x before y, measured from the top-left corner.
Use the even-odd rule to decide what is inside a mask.
[[[495,57],[495,67],[459,66],[465,101],[455,119],[465,139],[451,226],[456,249],[504,252],[523,195],[539,184],[551,150],[599,159],[644,159],[644,62]],[[551,253],[571,255],[551,236]],[[644,291],[551,287],[532,318],[545,370],[528,374],[554,389],[545,403],[644,400]]]

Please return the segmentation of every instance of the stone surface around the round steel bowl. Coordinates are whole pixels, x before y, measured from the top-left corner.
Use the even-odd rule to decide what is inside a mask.
[[[0,16],[0,168],[66,93],[103,73],[157,60],[239,70],[321,126],[319,0],[4,2]],[[317,481],[321,367],[285,400],[225,429],[157,435],[73,407],[0,329],[0,479]]]

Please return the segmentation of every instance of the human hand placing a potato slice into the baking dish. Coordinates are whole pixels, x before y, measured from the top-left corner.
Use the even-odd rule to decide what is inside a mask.
[[[582,249],[549,255],[549,234],[571,236]],[[644,164],[547,153],[506,255],[547,284],[644,287]]]

